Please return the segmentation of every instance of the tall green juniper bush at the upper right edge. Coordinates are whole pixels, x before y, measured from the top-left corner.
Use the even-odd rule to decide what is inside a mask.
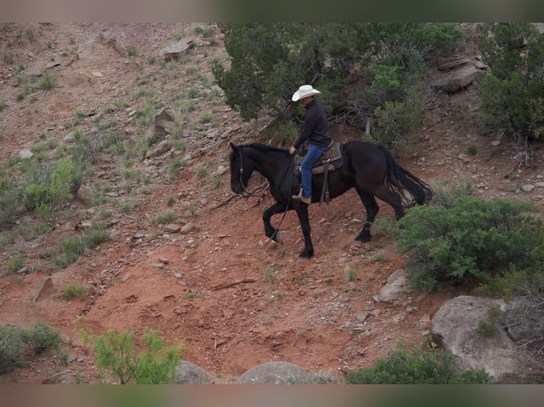
[[[544,135],[544,35],[531,23],[489,24],[482,33],[485,37],[479,46],[491,68],[482,82],[482,131],[540,139]]]

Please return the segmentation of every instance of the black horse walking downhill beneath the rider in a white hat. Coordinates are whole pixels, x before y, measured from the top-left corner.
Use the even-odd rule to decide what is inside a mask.
[[[291,196],[298,193],[299,182],[293,174],[293,156],[288,150],[259,143],[234,145],[230,143],[231,187],[235,194],[246,190],[249,177],[256,171],[270,183],[270,191],[276,204],[269,206],[263,213],[264,233],[268,238],[282,243],[281,234],[271,225],[271,217],[276,213],[295,210],[304,235],[304,250],[300,260],[314,255],[308,221],[308,205],[298,204]],[[312,176],[312,202],[319,201],[323,187],[323,175]],[[408,192],[408,206],[423,205],[433,197],[433,190],[425,182],[410,174],[398,165],[391,152],[382,145],[350,141],[344,145],[344,164],[339,169],[329,172],[330,198],[344,194],[355,188],[366,208],[366,221],[355,241],[368,242],[371,239],[370,228],[379,206],[377,198],[387,202],[395,210],[397,220],[404,216],[402,206]],[[402,198],[401,198],[402,194]]]

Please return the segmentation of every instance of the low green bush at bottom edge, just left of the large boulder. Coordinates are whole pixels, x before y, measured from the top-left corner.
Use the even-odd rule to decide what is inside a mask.
[[[455,372],[453,355],[430,347],[403,343],[374,367],[348,372],[349,384],[486,384],[491,378],[484,369]]]

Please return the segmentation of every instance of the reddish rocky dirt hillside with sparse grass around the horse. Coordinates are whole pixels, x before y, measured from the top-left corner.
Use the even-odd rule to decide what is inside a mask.
[[[261,221],[272,204],[268,191],[234,196],[228,170],[228,141],[262,141],[267,122],[244,123],[223,103],[210,66],[227,55],[214,24],[4,23],[0,29],[2,168],[17,173],[24,155],[58,160],[82,134],[94,146],[88,194],[63,206],[53,228],[26,213],[1,235],[1,322],[43,320],[61,330],[67,365],[54,355],[33,355],[31,367],[1,382],[41,383],[60,370],[83,383],[104,381],[76,329],[81,325],[92,333],[161,330],[183,341],[184,358],[218,382],[268,361],[341,378],[400,341],[428,340],[440,304],[469,294],[382,301],[383,284],[405,259],[380,233],[352,245],[365,216],[354,191],[310,207],[312,260],[297,262],[303,240],[294,213],[281,224],[284,245],[268,242]],[[180,40],[183,55],[165,58],[161,51]],[[479,196],[540,203],[540,162],[518,168],[501,140],[477,133],[477,81],[455,94],[433,93],[447,75],[436,67],[429,78],[433,104],[398,161],[430,184],[468,178]],[[53,87],[40,82],[44,77]],[[163,109],[173,115],[157,117]],[[358,132],[331,128],[336,140]],[[163,136],[153,140],[156,134]],[[261,182],[256,177],[252,186]],[[393,218],[392,209],[381,206],[378,218]],[[98,223],[109,238],[79,260],[60,267],[46,255]],[[14,257],[23,264],[9,269]],[[65,299],[70,285],[85,287],[85,295]]]

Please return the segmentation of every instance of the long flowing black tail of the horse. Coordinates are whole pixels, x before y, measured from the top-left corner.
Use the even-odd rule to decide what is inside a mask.
[[[378,146],[383,155],[386,157],[387,163],[387,177],[386,184],[389,189],[396,190],[403,199],[405,198],[404,191],[412,196],[412,202],[408,206],[413,204],[423,205],[427,204],[433,199],[433,189],[423,182],[414,174],[410,173],[407,169],[404,169],[393,158],[391,152],[387,150],[383,145]]]

